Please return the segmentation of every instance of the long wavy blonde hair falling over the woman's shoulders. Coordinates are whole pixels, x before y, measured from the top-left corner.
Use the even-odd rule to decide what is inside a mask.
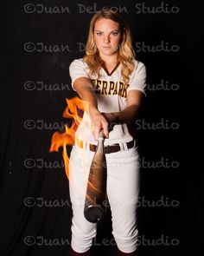
[[[121,64],[123,81],[129,82],[130,75],[135,68],[134,60],[136,57],[131,42],[131,30],[118,11],[108,8],[103,8],[102,10],[97,11],[96,14],[92,16],[90,22],[88,39],[86,42],[86,56],[83,57],[83,60],[86,62],[89,69],[88,74],[89,76],[95,74],[99,77],[99,69],[101,69],[103,64],[103,60],[99,56],[99,50],[96,47],[93,37],[94,25],[100,18],[111,19],[119,25],[122,39],[118,48],[118,62]]]

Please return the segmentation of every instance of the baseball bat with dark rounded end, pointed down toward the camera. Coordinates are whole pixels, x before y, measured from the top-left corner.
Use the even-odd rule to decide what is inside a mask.
[[[101,130],[97,149],[92,158],[86,187],[84,215],[86,220],[97,223],[105,216],[107,169],[104,150],[105,135]]]

